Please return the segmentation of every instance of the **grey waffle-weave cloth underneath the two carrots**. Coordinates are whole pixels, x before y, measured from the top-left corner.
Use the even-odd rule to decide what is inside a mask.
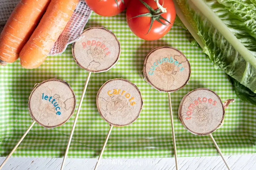
[[[0,32],[2,32],[9,15],[11,15],[12,10],[19,1],[20,0],[0,1]],[[74,14],[67,23],[67,26],[52,47],[49,56],[63,53],[66,50],[67,45],[75,42],[79,38],[91,13],[92,10],[86,5],[84,0],[80,0]]]

